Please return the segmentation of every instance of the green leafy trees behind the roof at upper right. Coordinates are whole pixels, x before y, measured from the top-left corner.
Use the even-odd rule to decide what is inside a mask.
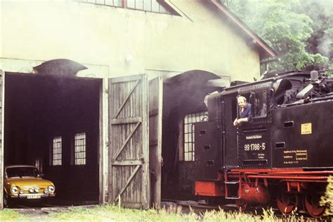
[[[311,11],[309,15],[306,6],[311,7],[313,2],[309,0],[222,2],[279,53],[279,60],[270,64],[271,69],[327,69],[332,63],[332,11],[325,15],[323,11]],[[315,5],[323,7],[318,2]]]

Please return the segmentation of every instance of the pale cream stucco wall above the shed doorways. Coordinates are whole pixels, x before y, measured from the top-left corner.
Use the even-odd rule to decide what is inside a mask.
[[[0,66],[26,70],[29,63],[66,58],[91,68],[84,76],[191,69],[231,76],[231,81],[259,75],[259,53],[221,12],[200,0],[169,2],[182,16],[77,1],[4,0]]]

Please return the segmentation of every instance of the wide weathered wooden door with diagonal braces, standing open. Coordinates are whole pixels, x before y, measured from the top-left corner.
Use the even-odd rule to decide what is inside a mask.
[[[147,75],[109,80],[109,202],[150,205]]]

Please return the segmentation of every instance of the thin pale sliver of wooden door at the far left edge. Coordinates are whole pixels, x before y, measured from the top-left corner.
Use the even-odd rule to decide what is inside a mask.
[[[4,208],[4,83],[5,73],[0,69],[0,209]]]

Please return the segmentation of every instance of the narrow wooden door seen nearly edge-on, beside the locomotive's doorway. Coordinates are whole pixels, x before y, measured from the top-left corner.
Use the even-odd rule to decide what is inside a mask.
[[[161,205],[162,167],[162,77],[149,81],[149,170],[150,199],[154,207]]]

